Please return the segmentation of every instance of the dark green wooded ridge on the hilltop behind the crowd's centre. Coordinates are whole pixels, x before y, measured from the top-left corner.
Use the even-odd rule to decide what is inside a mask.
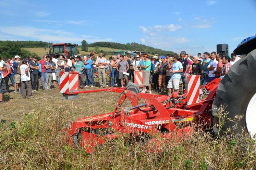
[[[114,49],[125,49],[125,50],[130,50],[130,51],[145,51],[148,54],[160,54],[160,55],[166,55],[166,54],[176,54],[172,51],[165,51],[162,49],[150,47],[147,45],[143,44],[138,44],[135,42],[132,43],[126,43],[126,44],[121,44],[121,43],[115,43],[115,42],[95,42],[88,44],[88,47],[108,47],[108,48],[114,48]]]

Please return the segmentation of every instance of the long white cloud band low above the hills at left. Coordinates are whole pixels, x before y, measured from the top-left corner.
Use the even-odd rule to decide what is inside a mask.
[[[92,37],[88,35],[77,36],[74,32],[68,32],[64,30],[51,30],[51,29],[41,29],[35,27],[2,27],[0,28],[0,34],[4,35],[5,38],[9,39],[29,39],[38,41],[53,41],[53,42],[81,42],[86,39],[88,42],[96,41],[112,41],[111,38],[100,39],[97,37]],[[2,36],[1,36],[2,39]]]

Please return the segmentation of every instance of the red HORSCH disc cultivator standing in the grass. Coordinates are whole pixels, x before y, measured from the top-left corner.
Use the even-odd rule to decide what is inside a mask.
[[[161,144],[157,140],[159,137],[181,140],[191,134],[192,123],[203,121],[209,126],[212,125],[211,107],[219,82],[220,79],[215,79],[203,86],[200,90],[201,95],[207,97],[192,104],[188,104],[187,101],[190,91],[171,98],[165,95],[139,93],[138,86],[133,83],[125,89],[109,89],[107,91],[121,92],[114,111],[79,118],[72,122],[67,129],[68,140],[71,145],[81,144],[87,153],[94,152],[95,146],[103,144],[106,140],[115,139],[119,134],[146,135],[149,137],[148,144],[154,142],[156,148]],[[194,91],[191,94],[198,95],[199,98],[199,90],[191,90]],[[130,107],[122,107],[125,100],[130,100]],[[144,102],[140,103],[142,100]],[[177,123],[184,123],[185,126],[179,128]]]

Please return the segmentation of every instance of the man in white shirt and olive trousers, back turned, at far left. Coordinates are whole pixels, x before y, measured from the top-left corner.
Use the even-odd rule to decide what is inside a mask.
[[[30,82],[30,73],[29,68],[27,66],[27,60],[22,60],[22,65],[20,67],[21,70],[21,88],[22,88],[22,98],[25,99],[26,97],[28,99],[34,98],[32,96],[32,86]],[[26,94],[26,87],[27,87],[27,94]]]

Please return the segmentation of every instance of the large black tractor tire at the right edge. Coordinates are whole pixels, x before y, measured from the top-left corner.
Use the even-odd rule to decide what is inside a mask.
[[[212,114],[214,124],[219,122],[217,110],[222,106],[228,112],[227,118],[235,119],[235,115],[243,116],[235,122],[227,121],[221,129],[214,128],[214,133],[221,136],[228,128],[234,133],[248,133],[255,138],[256,133],[256,49],[246,57],[238,60],[221,80],[214,102]]]

